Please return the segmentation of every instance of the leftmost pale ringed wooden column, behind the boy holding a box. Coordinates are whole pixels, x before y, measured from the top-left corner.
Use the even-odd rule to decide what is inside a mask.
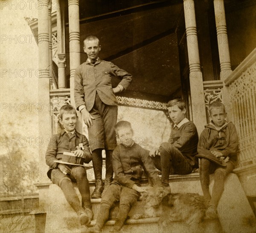
[[[39,149],[39,171],[43,174],[43,179],[37,179],[36,182],[49,182],[46,176],[47,165],[45,163],[45,152],[51,136],[51,120],[49,111],[49,0],[39,0],[38,9],[38,149]]]

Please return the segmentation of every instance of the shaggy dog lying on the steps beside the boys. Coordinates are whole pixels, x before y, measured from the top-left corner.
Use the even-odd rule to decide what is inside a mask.
[[[160,217],[159,232],[172,222],[198,224],[205,216],[203,196],[197,193],[170,193],[164,188],[147,187],[147,193],[142,194],[144,213],[135,214],[134,219]]]

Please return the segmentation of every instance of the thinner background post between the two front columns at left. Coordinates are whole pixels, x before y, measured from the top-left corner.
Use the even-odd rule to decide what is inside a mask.
[[[57,9],[57,35],[58,35],[58,88],[66,88],[66,54],[65,54],[65,32],[64,32],[64,7],[58,0]]]

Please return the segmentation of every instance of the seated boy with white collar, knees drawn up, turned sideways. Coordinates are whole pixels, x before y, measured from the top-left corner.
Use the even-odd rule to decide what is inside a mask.
[[[174,123],[168,142],[150,151],[149,155],[157,169],[162,171],[162,185],[169,187],[169,175],[185,175],[198,166],[195,159],[198,132],[195,124],[186,118],[186,104],[181,99],[167,103],[169,116]]]

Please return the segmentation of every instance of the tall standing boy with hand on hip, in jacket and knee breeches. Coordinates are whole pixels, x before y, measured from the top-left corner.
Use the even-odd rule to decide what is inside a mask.
[[[93,156],[96,188],[91,198],[100,198],[113,178],[112,152],[116,147],[114,126],[117,120],[116,93],[130,85],[132,76],[111,62],[99,59],[101,45],[95,36],[84,40],[84,52],[88,59],[75,72],[75,102],[88,127],[89,145]],[[112,88],[111,78],[121,80]],[[106,178],[103,191],[102,150],[106,151]],[[103,191],[103,193],[102,193]]]

